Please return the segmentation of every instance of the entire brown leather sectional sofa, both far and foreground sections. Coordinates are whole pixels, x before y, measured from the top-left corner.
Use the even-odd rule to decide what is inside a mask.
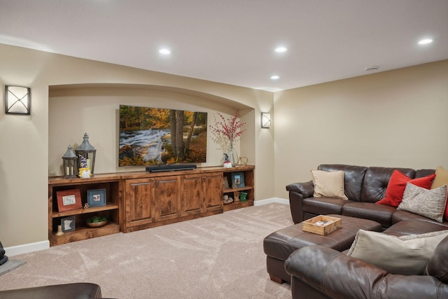
[[[319,170],[344,171],[344,189],[349,200],[313,197],[312,181],[292,183],[290,210],[295,223],[319,214],[365,218],[381,224],[388,235],[416,235],[448,230],[439,223],[408,211],[375,202],[385,197],[395,169],[411,179],[433,174],[435,169],[319,165]],[[306,246],[290,255],[285,263],[292,275],[293,298],[448,298],[448,237],[428,264],[428,275],[390,274],[379,267],[346,256],[324,246]]]

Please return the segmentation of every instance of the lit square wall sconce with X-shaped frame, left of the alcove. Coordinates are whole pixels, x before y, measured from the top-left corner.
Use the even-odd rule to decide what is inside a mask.
[[[31,113],[31,88],[5,85],[5,113],[29,116]]]

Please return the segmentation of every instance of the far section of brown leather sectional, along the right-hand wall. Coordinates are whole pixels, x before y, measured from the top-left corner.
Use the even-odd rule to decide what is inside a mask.
[[[448,222],[438,223],[429,218],[412,214],[407,211],[397,211],[395,207],[385,204],[375,204],[384,198],[388,181],[392,172],[398,169],[409,178],[419,178],[433,174],[435,169],[410,169],[392,167],[363,167],[353,165],[319,165],[318,170],[344,171],[344,190],[349,200],[332,197],[313,197],[312,181],[306,183],[291,183],[286,186],[289,191],[289,203],[294,223],[300,223],[308,218],[321,214],[339,214],[377,221],[384,228],[404,220],[424,221],[417,228],[400,228],[398,235],[412,235],[434,230],[431,223],[442,224],[441,230],[448,229]],[[428,224],[427,224],[428,223]],[[428,225],[426,227],[425,225]]]

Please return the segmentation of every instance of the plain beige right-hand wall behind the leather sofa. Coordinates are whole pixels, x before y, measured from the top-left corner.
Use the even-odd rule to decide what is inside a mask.
[[[448,60],[274,94],[274,181],[323,163],[448,168]]]

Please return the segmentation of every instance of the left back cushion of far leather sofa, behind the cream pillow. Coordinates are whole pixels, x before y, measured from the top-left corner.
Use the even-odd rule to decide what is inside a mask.
[[[343,165],[343,164],[322,164],[317,167],[318,170],[325,172],[344,171],[344,191],[349,200],[360,201],[361,187],[367,167]]]

